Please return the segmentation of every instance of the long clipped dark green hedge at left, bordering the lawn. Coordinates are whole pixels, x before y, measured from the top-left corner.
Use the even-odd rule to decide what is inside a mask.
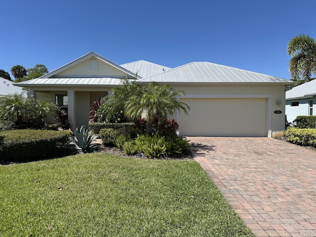
[[[69,145],[69,134],[53,130],[1,131],[0,160],[26,161],[55,157],[64,153]],[[2,143],[1,143],[2,140]]]

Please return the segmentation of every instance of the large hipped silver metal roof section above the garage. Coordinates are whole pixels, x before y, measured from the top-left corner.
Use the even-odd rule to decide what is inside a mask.
[[[283,82],[292,84],[289,80],[280,79],[265,74],[250,72],[209,62],[193,62],[167,72],[139,79],[139,82]]]

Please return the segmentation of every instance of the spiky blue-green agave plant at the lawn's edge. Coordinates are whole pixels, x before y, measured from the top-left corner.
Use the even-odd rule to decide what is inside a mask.
[[[75,137],[69,137],[72,143],[75,144],[76,149],[80,150],[82,153],[95,152],[98,144],[92,144],[92,142],[98,136],[92,134],[92,131],[87,129],[85,130],[85,126],[82,125],[80,130],[78,127],[75,130]]]

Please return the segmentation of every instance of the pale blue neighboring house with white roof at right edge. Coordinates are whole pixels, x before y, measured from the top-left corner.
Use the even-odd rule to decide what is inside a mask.
[[[316,115],[316,79],[285,92],[285,114],[292,122],[299,115]]]

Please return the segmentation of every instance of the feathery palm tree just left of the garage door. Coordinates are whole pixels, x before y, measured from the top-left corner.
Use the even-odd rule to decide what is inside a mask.
[[[155,116],[158,117],[158,129],[168,115],[184,111],[188,114],[190,107],[179,101],[184,96],[183,90],[174,90],[170,85],[158,85],[149,83],[141,90],[141,94],[132,95],[125,103],[126,115],[131,118],[140,118],[146,113],[147,129],[152,132],[152,124]]]

